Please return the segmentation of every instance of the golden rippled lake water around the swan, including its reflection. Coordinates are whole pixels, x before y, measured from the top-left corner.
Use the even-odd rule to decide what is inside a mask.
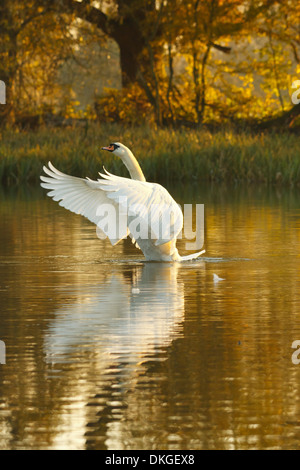
[[[299,448],[299,192],[177,191],[205,204],[182,265],[1,195],[1,449]]]

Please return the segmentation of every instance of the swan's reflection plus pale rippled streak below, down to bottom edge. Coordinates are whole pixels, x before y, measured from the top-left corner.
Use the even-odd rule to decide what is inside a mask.
[[[98,279],[97,285],[68,289],[69,303],[48,324],[48,377],[58,377],[59,383],[55,400],[60,419],[53,449],[69,444],[122,449],[129,396],[139,402],[144,393],[140,380],[147,393],[146,383],[151,386],[152,373],[161,370],[168,347],[183,333],[181,263],[118,263],[107,268],[112,271],[104,275],[102,269],[106,278],[101,284]]]

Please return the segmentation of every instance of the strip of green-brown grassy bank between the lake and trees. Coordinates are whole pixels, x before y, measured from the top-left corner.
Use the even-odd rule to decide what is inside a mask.
[[[2,185],[39,184],[42,165],[51,160],[61,171],[95,178],[104,165],[127,176],[126,169],[101,146],[120,141],[138,158],[149,181],[249,181],[300,184],[300,138],[290,134],[123,128],[5,131],[0,140]]]

